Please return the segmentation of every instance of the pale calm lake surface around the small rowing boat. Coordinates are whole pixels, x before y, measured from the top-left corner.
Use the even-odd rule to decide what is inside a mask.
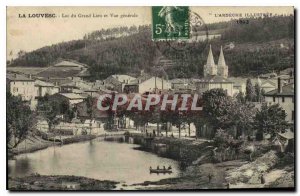
[[[9,161],[9,175],[31,173],[44,175],[78,175],[127,184],[175,177],[179,173],[176,161],[152,153],[134,150],[137,145],[105,141],[88,141],[61,147],[50,147],[34,153],[18,155]],[[149,167],[173,168],[172,174],[150,174]]]

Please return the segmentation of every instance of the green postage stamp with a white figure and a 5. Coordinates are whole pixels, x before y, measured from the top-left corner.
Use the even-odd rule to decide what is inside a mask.
[[[154,40],[189,39],[188,6],[152,7],[152,35]]]

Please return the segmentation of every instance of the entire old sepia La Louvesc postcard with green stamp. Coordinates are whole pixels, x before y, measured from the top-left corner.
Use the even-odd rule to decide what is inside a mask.
[[[293,7],[7,7],[7,189],[295,190]]]

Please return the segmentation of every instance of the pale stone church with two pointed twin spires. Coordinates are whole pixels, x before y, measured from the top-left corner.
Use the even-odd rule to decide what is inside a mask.
[[[223,48],[221,46],[218,64],[215,64],[211,45],[207,62],[203,69],[203,78],[196,83],[197,92],[202,94],[205,91],[221,88],[227,92],[229,96],[233,96],[233,83],[228,77],[228,66],[226,65]]]

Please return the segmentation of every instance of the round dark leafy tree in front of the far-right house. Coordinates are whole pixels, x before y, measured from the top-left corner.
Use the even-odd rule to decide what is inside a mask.
[[[277,133],[285,132],[285,129],[288,128],[285,117],[286,113],[279,104],[268,106],[267,103],[264,103],[253,121],[253,128],[257,130],[256,139],[262,140],[264,133],[270,134],[271,138],[274,138]]]

